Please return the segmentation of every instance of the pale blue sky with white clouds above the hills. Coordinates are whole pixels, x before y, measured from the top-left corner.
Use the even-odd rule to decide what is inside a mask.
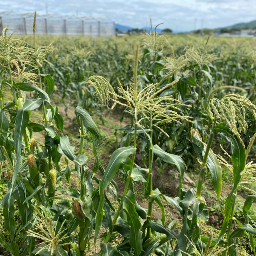
[[[0,0],[0,12],[106,16],[133,28],[190,31],[256,20],[256,0]]]

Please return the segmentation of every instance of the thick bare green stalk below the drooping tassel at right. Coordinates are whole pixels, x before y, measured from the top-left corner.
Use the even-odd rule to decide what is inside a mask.
[[[213,124],[212,124],[212,129],[211,129],[211,132],[210,132],[210,136],[209,136],[209,141],[208,141],[205,153],[204,153],[204,159],[203,159],[203,162],[202,162],[202,169],[200,170],[200,174],[199,174],[199,178],[198,178],[198,184],[197,184],[197,189],[196,189],[196,197],[197,198],[201,197],[202,184],[203,184],[203,180],[204,180],[204,173],[205,173],[205,170],[206,170],[206,161],[207,161],[207,157],[208,157],[208,154],[209,154],[209,151],[210,151],[210,148],[211,148],[211,144],[212,144],[212,140],[213,140],[213,136],[214,136],[213,129],[215,128],[216,121],[217,121],[217,118],[215,117],[214,121],[213,121]]]

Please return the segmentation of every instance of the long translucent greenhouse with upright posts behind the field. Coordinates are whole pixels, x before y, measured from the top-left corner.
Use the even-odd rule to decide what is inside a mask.
[[[34,13],[16,14],[0,12],[0,33],[8,27],[9,33],[18,35],[33,34]],[[55,14],[36,15],[36,34],[114,36],[115,23],[106,17],[58,16]]]

